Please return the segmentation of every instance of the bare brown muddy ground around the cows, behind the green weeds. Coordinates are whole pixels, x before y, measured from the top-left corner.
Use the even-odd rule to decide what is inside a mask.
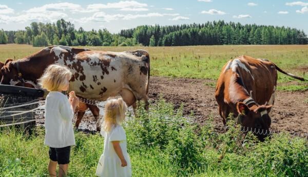
[[[162,95],[166,101],[174,103],[176,108],[183,103],[184,114],[189,115],[191,111],[194,112],[194,120],[198,124],[206,124],[207,120],[213,117],[216,131],[224,132],[214,97],[215,84],[213,80],[151,76],[148,96],[151,102],[155,102]],[[308,91],[276,91],[272,130],[301,135],[308,133],[307,99]],[[103,104],[99,107],[103,108]],[[95,130],[91,112],[86,112],[80,129]]]

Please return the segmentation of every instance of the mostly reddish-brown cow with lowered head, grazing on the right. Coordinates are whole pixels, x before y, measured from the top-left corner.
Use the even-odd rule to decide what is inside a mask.
[[[264,140],[271,126],[277,70],[304,81],[304,78],[286,73],[268,60],[251,56],[239,56],[223,66],[215,97],[224,125],[229,114],[233,113],[242,128],[256,130],[258,139]]]

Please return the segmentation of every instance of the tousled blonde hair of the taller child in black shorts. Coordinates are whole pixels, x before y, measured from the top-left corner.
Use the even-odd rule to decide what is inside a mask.
[[[48,91],[56,91],[68,84],[71,76],[72,73],[67,67],[53,64],[46,68],[44,74],[38,79],[38,84]]]

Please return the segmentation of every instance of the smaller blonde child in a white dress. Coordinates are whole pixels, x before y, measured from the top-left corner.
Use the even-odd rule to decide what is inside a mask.
[[[127,153],[126,134],[121,125],[127,106],[122,98],[110,99],[105,105],[104,152],[101,155],[96,175],[104,177],[130,177],[131,164]]]

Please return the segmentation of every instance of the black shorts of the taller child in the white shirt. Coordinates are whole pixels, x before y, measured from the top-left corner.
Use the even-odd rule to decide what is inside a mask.
[[[58,164],[69,164],[70,146],[64,148],[49,147],[49,159]]]

